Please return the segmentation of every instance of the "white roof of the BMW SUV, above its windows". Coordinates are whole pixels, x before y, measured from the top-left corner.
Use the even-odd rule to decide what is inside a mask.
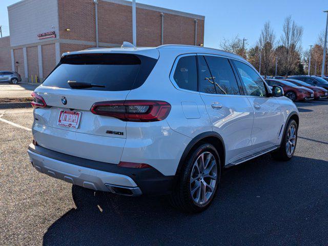
[[[130,53],[130,54],[143,54],[153,58],[158,58],[159,50],[167,50],[167,49],[181,49],[181,53],[206,53],[206,54],[216,54],[228,56],[230,58],[235,58],[242,60],[248,63],[243,57],[236,55],[234,53],[230,53],[223,50],[207,48],[202,46],[193,46],[193,45],[161,45],[158,47],[115,47],[115,48],[90,48],[81,51],[73,51],[63,53],[63,56],[68,54],[85,54],[85,53]],[[249,63],[248,63],[249,64]]]

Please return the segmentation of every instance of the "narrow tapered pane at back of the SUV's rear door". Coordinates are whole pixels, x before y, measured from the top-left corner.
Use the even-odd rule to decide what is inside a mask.
[[[203,56],[198,57],[199,91],[216,94],[212,75]]]

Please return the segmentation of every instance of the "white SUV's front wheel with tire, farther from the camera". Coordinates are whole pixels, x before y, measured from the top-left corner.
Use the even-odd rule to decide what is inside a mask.
[[[280,148],[277,151],[271,152],[274,159],[288,161],[293,157],[297,144],[297,130],[296,121],[294,119],[288,121]]]

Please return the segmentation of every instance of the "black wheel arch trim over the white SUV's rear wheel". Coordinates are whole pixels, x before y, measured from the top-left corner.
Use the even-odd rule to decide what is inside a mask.
[[[217,132],[203,132],[200,133],[199,135],[197,135],[196,137],[194,137],[189,144],[187,145],[187,147],[185,148],[185,151],[183,151],[182,156],[180,158],[179,161],[179,165],[178,168],[175,172],[175,176],[177,176],[177,174],[179,173],[179,171],[182,168],[183,165],[183,161],[185,161],[185,159],[187,158],[188,154],[190,153],[190,151],[192,150],[193,147],[195,147],[202,139],[207,138],[207,137],[216,137],[221,141],[221,144],[223,146],[223,158],[226,156],[226,146],[224,145],[224,141],[223,138],[220,134],[218,134]],[[221,163],[224,163],[225,160],[221,160]]]

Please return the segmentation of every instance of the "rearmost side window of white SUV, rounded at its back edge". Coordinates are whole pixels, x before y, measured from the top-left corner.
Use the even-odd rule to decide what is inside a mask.
[[[176,65],[173,78],[181,89],[197,91],[196,56],[181,57]]]

